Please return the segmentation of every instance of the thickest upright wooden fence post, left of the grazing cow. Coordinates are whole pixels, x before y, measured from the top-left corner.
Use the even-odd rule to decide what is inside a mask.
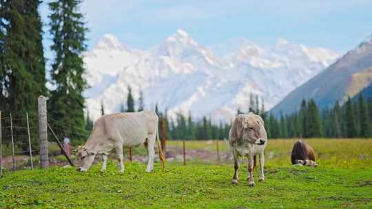
[[[47,109],[46,98],[39,96],[37,98],[39,108],[39,146],[40,146],[40,164],[41,168],[49,167],[48,159],[48,122],[47,122]]]

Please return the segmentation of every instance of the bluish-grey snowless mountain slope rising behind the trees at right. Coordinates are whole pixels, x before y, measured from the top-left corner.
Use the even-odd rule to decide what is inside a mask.
[[[303,99],[313,99],[320,109],[332,108],[358,96],[372,85],[372,34],[333,65],[294,89],[271,112],[289,114],[300,109]]]

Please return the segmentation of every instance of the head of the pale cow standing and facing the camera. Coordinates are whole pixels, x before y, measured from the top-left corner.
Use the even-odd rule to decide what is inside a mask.
[[[265,124],[260,115],[248,113],[245,120],[242,120],[242,137],[251,144],[265,144]]]

